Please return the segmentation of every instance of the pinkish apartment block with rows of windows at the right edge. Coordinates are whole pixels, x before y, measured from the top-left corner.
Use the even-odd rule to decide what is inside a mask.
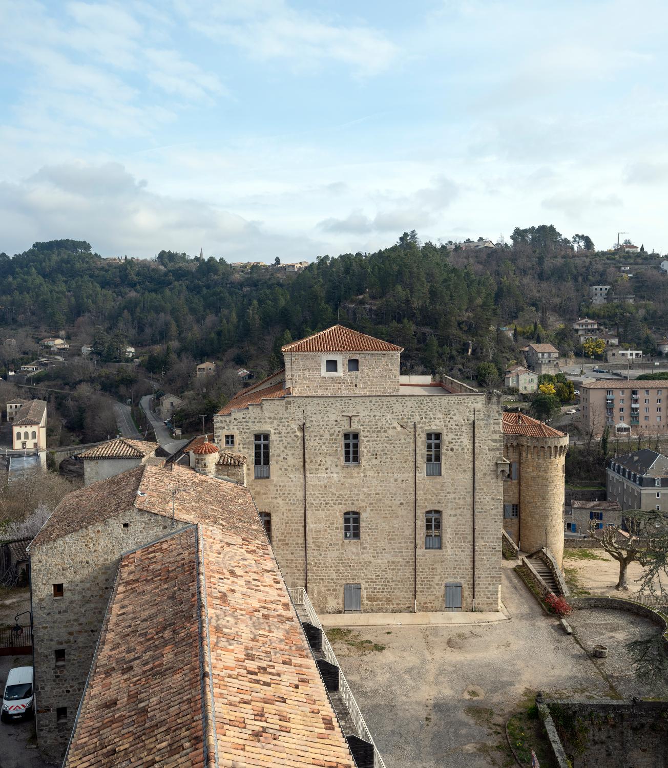
[[[594,435],[606,426],[613,434],[666,432],[666,381],[584,382],[580,386],[580,424]]]

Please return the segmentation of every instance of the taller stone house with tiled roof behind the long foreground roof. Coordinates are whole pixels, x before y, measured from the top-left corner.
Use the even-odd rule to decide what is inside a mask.
[[[141,465],[65,496],[28,548],[42,750],[65,752],[123,554],[188,524],[238,535],[251,518],[247,488],[176,465]]]

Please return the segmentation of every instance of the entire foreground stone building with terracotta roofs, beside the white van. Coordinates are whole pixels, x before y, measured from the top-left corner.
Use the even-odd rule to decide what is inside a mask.
[[[354,768],[247,488],[141,465],[29,551],[38,743],[65,766]]]

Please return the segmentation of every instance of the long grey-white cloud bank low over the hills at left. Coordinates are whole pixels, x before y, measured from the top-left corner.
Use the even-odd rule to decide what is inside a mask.
[[[150,257],[161,249],[227,260],[312,258],[318,243],[264,231],[261,223],[192,198],[148,190],[120,164],[58,164],[18,184],[0,184],[2,250],[36,240],[88,240],[105,256]]]

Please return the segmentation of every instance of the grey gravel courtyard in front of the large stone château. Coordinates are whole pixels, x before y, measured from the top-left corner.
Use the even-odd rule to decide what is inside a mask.
[[[554,697],[647,695],[617,660],[613,687],[589,654],[543,614],[513,564],[503,563],[503,603],[510,621],[431,627],[360,627],[351,642],[334,633],[334,652],[374,734],[387,768],[503,766],[503,723],[537,690]],[[643,637],[651,624],[633,614],[583,611],[588,638]],[[600,614],[597,616],[596,614]],[[384,646],[384,650],[366,650]],[[587,647],[587,645],[585,645]],[[613,662],[611,658],[610,664]]]

